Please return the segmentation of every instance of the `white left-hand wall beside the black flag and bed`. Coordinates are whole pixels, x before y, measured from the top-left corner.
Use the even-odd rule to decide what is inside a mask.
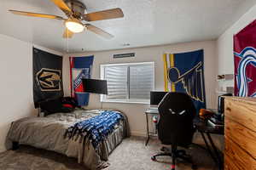
[[[32,97],[32,44],[0,34],[0,152],[11,122],[35,116]],[[34,45],[50,53],[61,54]]]

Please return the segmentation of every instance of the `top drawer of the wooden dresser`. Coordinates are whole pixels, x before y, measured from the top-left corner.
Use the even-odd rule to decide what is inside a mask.
[[[251,104],[250,102],[241,99],[232,98],[227,98],[224,101],[225,118],[230,118],[232,121],[238,122],[242,126],[256,132],[256,102]]]

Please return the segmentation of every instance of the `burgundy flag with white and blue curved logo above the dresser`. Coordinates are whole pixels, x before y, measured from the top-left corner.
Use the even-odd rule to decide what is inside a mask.
[[[256,20],[234,36],[235,92],[256,97]]]

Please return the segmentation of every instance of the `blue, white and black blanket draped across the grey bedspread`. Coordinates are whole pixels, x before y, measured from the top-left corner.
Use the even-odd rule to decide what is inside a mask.
[[[65,138],[82,139],[89,138],[91,144],[97,149],[97,146],[105,139],[108,134],[112,133],[115,125],[118,125],[124,117],[119,111],[102,111],[100,115],[94,116],[88,120],[77,122],[68,127]]]

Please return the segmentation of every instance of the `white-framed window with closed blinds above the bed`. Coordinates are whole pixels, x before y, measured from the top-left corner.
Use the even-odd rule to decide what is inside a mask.
[[[108,95],[101,95],[102,102],[149,104],[154,62],[101,65],[101,78],[108,83]]]

